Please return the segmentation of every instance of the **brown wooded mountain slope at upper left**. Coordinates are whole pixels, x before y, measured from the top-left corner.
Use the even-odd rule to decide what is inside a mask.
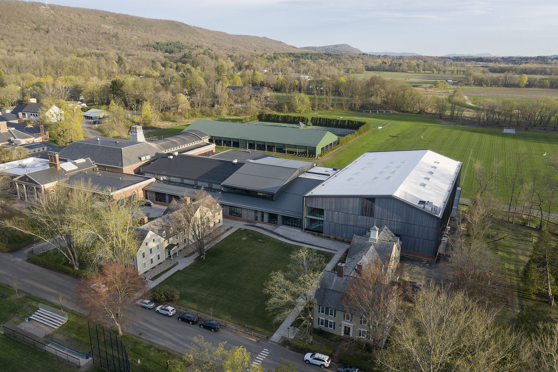
[[[93,3],[92,3],[93,6]],[[153,51],[146,44],[180,41],[224,53],[300,52],[294,46],[267,37],[231,35],[186,23],[129,16],[97,9],[56,4],[0,0],[2,40],[9,54],[70,50],[77,54]]]

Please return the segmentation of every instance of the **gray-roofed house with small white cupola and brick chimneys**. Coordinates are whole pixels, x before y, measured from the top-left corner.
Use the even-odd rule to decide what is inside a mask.
[[[324,271],[320,279],[320,288],[316,289],[314,298],[314,327],[340,336],[362,338],[368,342],[371,338],[371,324],[367,314],[353,314],[346,309],[343,295],[350,282],[359,280],[359,274],[365,266],[380,260],[388,276],[395,273],[401,254],[401,241],[386,226],[378,229],[372,227],[368,236],[353,236],[347,259],[336,267],[336,272]],[[385,338],[382,337],[383,345]]]

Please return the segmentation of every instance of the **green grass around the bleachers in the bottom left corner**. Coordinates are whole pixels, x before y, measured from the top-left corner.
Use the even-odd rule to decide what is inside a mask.
[[[54,308],[60,308],[59,305],[49,303],[39,298],[25,294],[21,298],[12,298],[15,294],[13,288],[0,284],[0,292],[8,292],[8,297],[2,298],[2,312],[0,312],[0,324],[7,325],[15,331],[19,329],[17,324],[25,321],[25,318],[39,309],[39,303],[47,304]],[[23,293],[18,291],[19,293]],[[66,309],[65,309],[66,310]],[[48,344],[50,338],[57,342],[69,346],[85,354],[90,351],[89,332],[86,319],[81,314],[75,312],[68,313],[68,322],[52,331],[46,337],[34,336],[35,340],[39,340],[44,344]],[[165,361],[175,360],[177,354],[162,346],[151,344],[136,336],[125,335],[122,338],[124,345],[128,351],[131,361],[141,359],[142,363],[133,367],[134,371],[163,371],[166,370]],[[0,335],[0,371],[11,372],[67,372],[78,371],[78,368],[62,362],[43,351],[34,347],[23,344],[6,335]],[[93,367],[89,371],[102,372],[102,369]]]

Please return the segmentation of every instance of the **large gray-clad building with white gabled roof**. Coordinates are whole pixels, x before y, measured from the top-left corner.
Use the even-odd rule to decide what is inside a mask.
[[[435,260],[460,175],[460,161],[430,150],[367,152],[305,195],[304,230],[352,239],[385,225],[402,254]]]

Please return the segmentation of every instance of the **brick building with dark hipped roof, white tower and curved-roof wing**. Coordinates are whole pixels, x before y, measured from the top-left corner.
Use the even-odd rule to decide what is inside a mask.
[[[140,174],[141,167],[165,154],[213,154],[215,145],[201,131],[181,132],[161,140],[146,141],[141,126],[132,126],[131,140],[108,137],[75,141],[60,151],[60,159],[70,161],[90,158],[99,169]]]

